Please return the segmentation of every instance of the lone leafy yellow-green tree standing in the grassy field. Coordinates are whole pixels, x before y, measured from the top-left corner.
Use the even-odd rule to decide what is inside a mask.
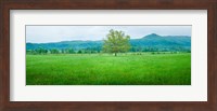
[[[128,52],[130,50],[129,40],[130,37],[125,36],[125,32],[111,29],[106,39],[103,40],[103,51],[106,53],[115,53],[115,56],[117,53]]]

